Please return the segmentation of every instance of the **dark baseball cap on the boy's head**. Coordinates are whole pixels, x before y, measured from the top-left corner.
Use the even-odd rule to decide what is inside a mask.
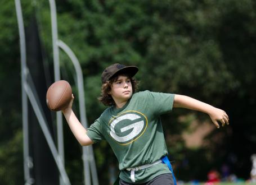
[[[138,72],[138,67],[136,66],[124,66],[120,63],[112,64],[111,66],[105,68],[101,75],[101,82],[104,84],[106,81],[110,80],[111,77],[118,73],[129,73],[133,77]]]

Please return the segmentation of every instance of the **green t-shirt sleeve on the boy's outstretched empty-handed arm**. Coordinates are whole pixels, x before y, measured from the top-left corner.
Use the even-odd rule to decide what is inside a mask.
[[[172,111],[175,94],[150,92],[148,94],[150,106],[155,114],[164,114]]]

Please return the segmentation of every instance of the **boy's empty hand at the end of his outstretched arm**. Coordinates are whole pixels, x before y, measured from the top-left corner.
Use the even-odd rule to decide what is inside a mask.
[[[215,124],[215,126],[217,128],[219,128],[219,122],[222,123],[222,127],[225,124],[230,124],[228,123],[229,118],[226,112],[224,112],[224,110],[218,109],[218,108],[213,108],[210,113],[209,113],[210,118],[212,119],[213,123]]]

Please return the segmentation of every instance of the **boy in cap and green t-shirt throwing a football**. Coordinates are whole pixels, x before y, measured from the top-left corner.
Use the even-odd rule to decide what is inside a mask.
[[[86,130],[69,107],[62,110],[71,131],[82,146],[106,140],[119,162],[119,184],[176,184],[169,163],[160,115],[173,108],[207,113],[219,128],[228,124],[221,109],[188,96],[159,92],[136,92],[135,66],[113,64],[102,73],[99,100],[108,105]]]

